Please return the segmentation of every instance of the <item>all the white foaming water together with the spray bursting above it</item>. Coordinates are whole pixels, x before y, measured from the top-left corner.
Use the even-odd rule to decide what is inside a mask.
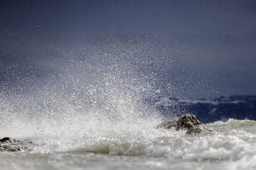
[[[1,169],[256,168],[255,121],[214,122],[206,126],[215,132],[194,136],[154,128],[186,112],[162,115],[150,102],[186,94],[168,77],[183,60],[177,49],[147,41],[56,49],[36,51],[47,57],[29,67],[1,62],[0,137],[34,143],[0,152]],[[185,87],[193,93],[189,80]]]

